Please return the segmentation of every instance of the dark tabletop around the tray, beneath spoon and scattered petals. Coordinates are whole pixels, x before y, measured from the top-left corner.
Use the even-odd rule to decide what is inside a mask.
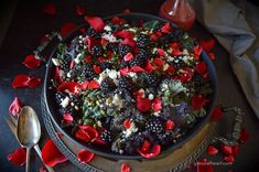
[[[40,94],[41,87],[35,89],[22,88],[13,89],[11,83],[17,74],[24,73],[36,75],[43,78],[44,65],[37,71],[29,71],[22,65],[23,58],[33,52],[39,45],[41,36],[52,31],[60,30],[65,22],[74,22],[80,24],[84,22],[82,17],[75,13],[75,7],[80,4],[85,7],[86,13],[98,17],[120,13],[128,8],[133,12],[152,13],[158,15],[159,7],[162,0],[61,0],[53,3],[57,7],[57,13],[54,17],[44,14],[42,11],[46,2],[21,0],[18,2],[9,2],[1,6],[0,18],[0,116],[8,116],[8,107],[13,98],[19,97],[24,105],[32,106],[39,114],[41,119]],[[10,24],[9,24],[10,23]],[[212,35],[197,22],[195,23],[192,33],[199,39],[207,39]],[[215,66],[218,73],[219,80],[219,97],[223,105],[238,106],[246,112],[245,125],[250,133],[250,139],[245,144],[240,146],[240,153],[237,157],[233,166],[215,166],[215,171],[251,171],[255,170],[259,162],[259,123],[256,115],[248,105],[246,97],[231,72],[228,63],[228,53],[217,44],[214,50],[216,54]],[[220,121],[220,131],[229,133],[231,116],[225,116]],[[40,146],[48,138],[43,122],[43,136]],[[24,171],[24,168],[13,165],[8,162],[7,155],[19,147],[15,138],[9,130],[4,119],[0,117],[0,169],[1,171],[19,172]],[[37,171],[42,164],[32,153],[32,171]],[[223,157],[208,157],[204,153],[203,158],[218,162],[223,161]],[[258,169],[258,168],[257,168]],[[56,171],[78,171],[69,162],[56,166]]]

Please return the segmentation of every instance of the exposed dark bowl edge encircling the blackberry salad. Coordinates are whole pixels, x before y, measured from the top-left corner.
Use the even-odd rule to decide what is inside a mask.
[[[112,17],[120,17],[120,18],[131,22],[132,24],[138,23],[138,21],[140,21],[140,20],[143,20],[143,22],[148,22],[148,21],[151,21],[151,20],[158,20],[158,21],[166,22],[166,20],[161,19],[159,17],[154,17],[154,15],[151,15],[151,14],[143,14],[143,13],[116,14],[116,15],[105,18],[105,20],[110,19]],[[172,23],[172,24],[174,24],[174,23]],[[84,24],[82,26],[86,26],[86,24]],[[76,36],[82,26],[78,26],[69,35],[67,35],[64,39],[64,42],[67,42],[67,41],[72,40],[74,36]],[[56,49],[57,49],[57,46],[53,50],[52,55],[55,54]],[[206,107],[207,115],[205,117],[198,119],[198,121],[195,123],[194,128],[191,131],[188,131],[185,136],[183,136],[181,138],[181,140],[179,140],[175,144],[169,147],[166,150],[163,150],[159,157],[165,155],[166,153],[170,153],[173,150],[176,150],[176,149],[181,148],[184,143],[186,143],[188,140],[194,138],[198,133],[198,131],[211,119],[212,110],[215,106],[215,100],[216,100],[216,95],[217,95],[217,76],[216,76],[215,67],[214,67],[212,61],[209,60],[208,55],[205,52],[203,52],[201,57],[207,64],[208,76],[209,76],[211,85],[212,85],[212,89],[213,89],[213,93],[209,95],[209,99],[211,99],[209,105],[207,105],[207,107]],[[46,68],[46,73],[45,73],[44,87],[43,87],[43,94],[44,95],[43,96],[44,96],[44,100],[45,100],[45,104],[46,104],[46,109],[47,109],[48,115],[51,116],[54,125],[58,128],[58,130],[65,137],[69,138],[75,143],[75,146],[79,146],[79,147],[82,147],[82,148],[84,148],[88,151],[91,151],[91,152],[94,152],[98,155],[102,155],[102,157],[106,157],[106,158],[117,159],[117,160],[118,159],[128,159],[128,160],[130,160],[130,159],[131,160],[133,160],[133,159],[134,160],[136,159],[143,159],[139,154],[136,154],[136,155],[118,154],[118,153],[111,152],[111,151],[106,150],[106,149],[101,149],[101,148],[98,148],[98,147],[95,147],[95,146],[85,144],[84,142],[76,140],[72,136],[71,130],[68,130],[66,128],[62,128],[61,127],[61,117],[57,115],[57,106],[56,106],[56,103],[54,100],[55,99],[54,98],[54,93],[48,89],[48,87],[51,86],[51,78],[52,78],[53,74],[54,74],[54,67],[53,67],[53,64],[50,60],[48,63],[47,63],[47,68]]]

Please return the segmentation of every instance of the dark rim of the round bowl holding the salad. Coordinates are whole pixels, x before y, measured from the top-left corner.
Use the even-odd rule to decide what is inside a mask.
[[[119,14],[112,14],[112,15],[109,15],[109,17],[106,17],[104,18],[104,20],[108,20],[108,19],[111,19],[114,17],[119,17],[119,18],[131,18],[131,17],[137,17],[139,18],[139,20],[141,19],[147,19],[149,21],[151,20],[158,20],[158,21],[162,21],[162,22],[171,22],[171,21],[168,21],[165,19],[162,19],[160,17],[157,17],[157,15],[152,15],[152,14],[147,14],[147,13],[128,13],[128,14],[123,14],[123,13],[119,13]],[[173,23],[173,22],[171,22]],[[174,25],[176,25],[175,23],[173,23]],[[60,43],[66,41],[73,33],[75,33],[76,31],[78,31],[82,26],[85,26],[86,24],[82,24],[79,26],[77,26],[75,30],[73,30],[68,35],[66,35],[64,37],[63,41],[56,43],[56,45],[54,46],[52,53],[51,53],[51,57],[47,62],[47,67],[46,67],[46,71],[45,71],[45,76],[44,76],[44,83],[43,83],[43,98],[44,98],[44,101],[45,101],[45,105],[46,105],[46,111],[47,114],[50,115],[52,121],[54,122],[54,125],[57,127],[57,129],[65,136],[67,137],[69,140],[73,141],[73,143],[75,144],[78,144],[82,148],[88,150],[88,151],[91,151],[98,155],[101,155],[101,157],[106,157],[106,158],[111,158],[111,159],[117,159],[117,160],[138,160],[138,159],[144,159],[143,157],[141,155],[138,155],[138,154],[134,154],[134,155],[128,155],[128,154],[118,154],[118,153],[108,153],[108,152],[105,152],[105,151],[101,151],[100,149],[98,148],[94,148],[94,147],[89,147],[87,144],[85,144],[84,142],[79,141],[79,140],[76,140],[72,133],[67,133],[66,130],[64,130],[61,125],[60,125],[60,121],[57,121],[57,118],[54,117],[54,111],[50,109],[50,107],[52,105],[50,105],[50,100],[47,98],[47,92],[48,92],[48,83],[51,80],[51,74],[53,73],[53,64],[52,64],[52,56],[55,54],[56,52],[56,49]],[[157,158],[160,158],[162,155],[165,155],[168,153],[171,153],[173,150],[176,150],[179,148],[181,148],[183,144],[185,144],[187,141],[190,141],[193,137],[195,137],[196,133],[198,133],[202,128],[208,122],[208,120],[211,119],[211,116],[213,114],[213,108],[215,107],[215,104],[216,104],[216,97],[217,97],[217,88],[218,88],[218,82],[217,82],[217,73],[216,73],[216,69],[215,69],[215,66],[214,64],[212,63],[211,58],[208,57],[208,55],[206,54],[206,52],[203,51],[203,53],[201,54],[201,58],[206,63],[207,65],[207,69],[208,69],[208,75],[209,75],[209,79],[212,82],[212,88],[213,88],[213,93],[211,95],[212,99],[211,99],[211,104],[209,104],[209,107],[207,108],[207,115],[205,117],[202,117],[196,123],[195,126],[192,128],[192,130],[190,130],[185,136],[183,136],[183,138],[181,138],[176,143],[172,144],[171,147],[169,147],[168,149],[161,151],[161,153],[157,157]],[[155,159],[157,159],[155,158]]]

